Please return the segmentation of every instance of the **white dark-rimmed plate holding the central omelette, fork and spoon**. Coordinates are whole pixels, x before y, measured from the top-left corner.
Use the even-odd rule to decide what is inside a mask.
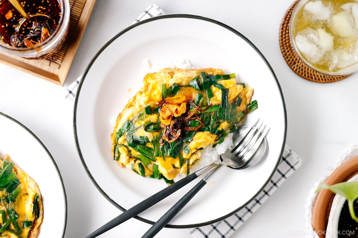
[[[260,117],[271,127],[268,150],[255,167],[245,171],[223,168],[167,225],[204,226],[231,216],[250,203],[269,183],[280,162],[286,140],[284,98],[269,63],[261,52],[231,27],[193,15],[164,15],[138,22],[110,39],[89,62],[74,104],[74,136],[84,169],[97,189],[125,211],[163,189],[163,180],[143,178],[112,159],[110,134],[118,113],[144,77],[142,61],[157,64],[189,59],[197,68],[213,67],[236,73],[254,88],[258,109],[245,124]],[[153,224],[190,187],[165,198],[139,214]],[[119,212],[118,212],[119,214]]]

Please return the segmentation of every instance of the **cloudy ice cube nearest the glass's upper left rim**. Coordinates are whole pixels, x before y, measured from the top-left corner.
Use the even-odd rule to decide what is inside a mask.
[[[303,7],[304,15],[309,21],[328,21],[332,14],[332,7],[328,2],[311,1]]]

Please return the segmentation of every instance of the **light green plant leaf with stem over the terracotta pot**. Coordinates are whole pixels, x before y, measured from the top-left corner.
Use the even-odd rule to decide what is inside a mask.
[[[319,192],[323,189],[329,189],[331,192],[335,194],[340,194],[345,197],[348,201],[348,208],[350,216],[354,221],[358,223],[358,218],[354,213],[353,203],[358,198],[358,182],[343,182],[333,184],[329,186],[325,183],[320,183],[316,192]]]

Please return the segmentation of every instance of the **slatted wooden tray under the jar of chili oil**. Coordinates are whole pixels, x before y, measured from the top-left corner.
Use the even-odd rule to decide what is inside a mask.
[[[0,52],[0,62],[63,85],[95,3],[96,0],[69,0],[71,16],[68,39],[54,56],[43,60],[27,60]]]

